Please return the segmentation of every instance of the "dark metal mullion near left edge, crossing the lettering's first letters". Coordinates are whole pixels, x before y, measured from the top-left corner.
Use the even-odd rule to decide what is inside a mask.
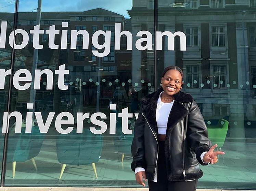
[[[15,0],[15,12],[14,12],[14,23],[13,23],[13,30],[17,29],[18,25],[18,2],[19,0]],[[15,42],[15,34],[13,39],[13,47]],[[11,49],[11,75],[10,75],[10,81],[9,81],[9,89],[8,89],[8,103],[7,103],[7,112],[10,112],[11,107],[11,94],[12,94],[12,77],[13,77],[13,68],[14,68],[14,62],[15,62],[15,50],[14,48]],[[9,118],[9,115],[8,115]],[[7,123],[8,129],[9,129],[9,122]],[[3,144],[3,160],[2,160],[2,170],[1,170],[1,187],[4,185],[4,178],[5,178],[5,168],[6,168],[6,159],[7,159],[7,143],[8,143],[8,133],[4,133],[4,144]]]

